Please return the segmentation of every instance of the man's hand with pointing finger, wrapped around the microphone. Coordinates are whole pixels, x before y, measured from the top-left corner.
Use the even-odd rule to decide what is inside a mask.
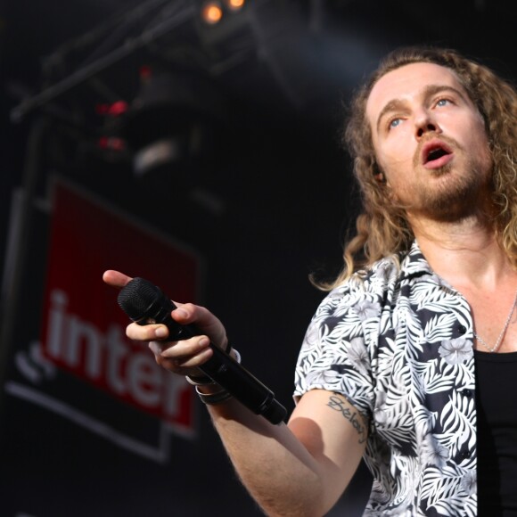
[[[122,289],[132,278],[119,271],[104,272],[103,281],[113,287]],[[135,341],[148,341],[156,362],[171,372],[181,375],[202,375],[199,366],[212,357],[209,348],[210,339],[222,348],[226,347],[227,338],[223,324],[209,312],[192,303],[174,302],[176,310],[171,313],[178,324],[195,324],[203,335],[194,336],[185,341],[166,341],[168,328],[163,324],[128,324],[126,335]]]

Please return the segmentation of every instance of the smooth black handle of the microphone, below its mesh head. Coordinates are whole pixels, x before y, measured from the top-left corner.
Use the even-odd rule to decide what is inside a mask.
[[[167,341],[181,341],[200,335],[202,332],[193,324],[178,324],[172,319],[170,313],[176,309],[176,305],[163,296],[160,303],[154,304],[146,311],[146,317],[142,320],[134,320],[137,324],[160,323],[168,328]],[[213,356],[203,365],[199,366],[214,382],[217,382],[243,406],[248,407],[255,414],[261,414],[270,423],[283,422],[287,411],[275,398],[275,393],[269,390],[252,373],[226,354],[222,349],[210,342]]]

